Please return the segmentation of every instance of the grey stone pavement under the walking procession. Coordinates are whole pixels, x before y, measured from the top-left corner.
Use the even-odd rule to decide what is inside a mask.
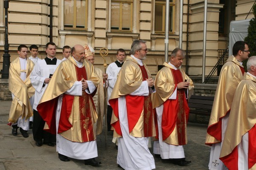
[[[107,149],[105,149],[105,131],[97,136],[98,158],[100,167],[84,165],[82,160],[70,159],[63,162],[58,159],[56,147],[43,145],[37,147],[32,138],[23,138],[18,131],[12,136],[12,127],[7,126],[10,101],[0,101],[0,170],[121,170],[116,164],[117,150],[112,141],[112,133],[107,133]],[[207,127],[204,125],[188,125],[189,142],[184,146],[186,160],[192,163],[180,167],[171,163],[163,163],[155,158],[156,170],[207,170],[210,147],[204,145]],[[153,142],[152,142],[153,146]],[[150,148],[151,153],[153,149]]]

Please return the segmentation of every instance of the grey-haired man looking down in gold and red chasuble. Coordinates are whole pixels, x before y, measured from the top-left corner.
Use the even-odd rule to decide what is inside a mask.
[[[157,112],[159,141],[154,142],[154,154],[180,166],[187,165],[183,145],[187,144],[186,124],[189,119],[188,98],[194,89],[192,80],[180,68],[185,52],[172,51],[170,62],[164,62],[155,80],[152,95]]]

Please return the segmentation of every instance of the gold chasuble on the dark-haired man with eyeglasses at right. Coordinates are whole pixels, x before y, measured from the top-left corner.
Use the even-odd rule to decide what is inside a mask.
[[[244,68],[230,56],[223,65],[212,105],[205,144],[221,142],[221,119],[229,113],[239,82],[243,79]]]

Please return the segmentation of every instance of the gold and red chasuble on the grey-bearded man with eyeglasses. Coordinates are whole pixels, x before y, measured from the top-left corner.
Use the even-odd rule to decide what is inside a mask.
[[[143,66],[140,66],[132,57],[126,57],[109,100],[113,108],[111,125],[114,128],[115,137],[122,136],[118,112],[118,98],[120,96],[125,96],[130,135],[134,137],[156,136],[151,94],[148,96],[130,95],[140,87],[145,79],[150,77],[151,74],[144,63]]]

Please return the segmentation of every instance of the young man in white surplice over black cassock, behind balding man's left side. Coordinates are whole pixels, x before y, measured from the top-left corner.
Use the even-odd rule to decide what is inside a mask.
[[[42,139],[44,139],[44,144],[48,146],[55,146],[55,136],[52,136],[50,133],[44,131],[44,120],[38,114],[37,106],[44,94],[45,89],[49,81],[51,80],[52,75],[54,74],[56,68],[61,63],[60,59],[55,58],[56,55],[56,45],[53,42],[48,42],[46,45],[47,57],[38,61],[35,65],[32,75],[30,77],[31,83],[35,88],[35,100],[33,105],[33,138],[37,146],[42,146]]]

